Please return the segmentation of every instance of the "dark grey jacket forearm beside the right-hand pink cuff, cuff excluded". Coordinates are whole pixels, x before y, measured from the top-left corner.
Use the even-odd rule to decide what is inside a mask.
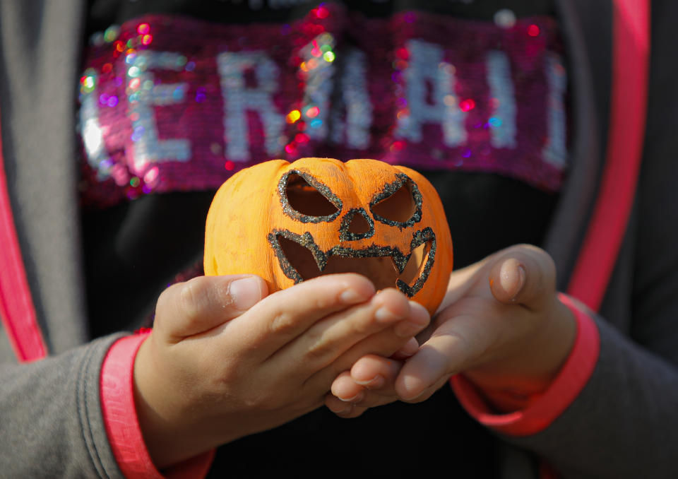
[[[509,442],[564,478],[674,477],[678,448],[675,365],[596,321],[600,355],[588,383],[544,430]]]

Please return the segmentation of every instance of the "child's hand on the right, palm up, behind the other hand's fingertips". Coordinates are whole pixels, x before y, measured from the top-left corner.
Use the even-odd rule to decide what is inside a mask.
[[[458,372],[485,391],[529,396],[552,381],[574,333],[571,312],[555,294],[550,256],[532,246],[511,247],[452,273],[414,356],[404,364],[362,357],[335,380],[326,406],[355,417],[396,399],[424,401]]]

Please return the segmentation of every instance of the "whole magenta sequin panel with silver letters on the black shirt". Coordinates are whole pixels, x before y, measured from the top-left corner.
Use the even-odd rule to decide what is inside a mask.
[[[81,77],[90,206],[215,189],[271,158],[376,158],[558,191],[566,74],[552,18],[510,26],[328,5],[284,24],[153,15],[94,35]]]

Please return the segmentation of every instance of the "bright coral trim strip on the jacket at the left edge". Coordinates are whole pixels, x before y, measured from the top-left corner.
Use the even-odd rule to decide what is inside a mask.
[[[1,125],[0,125],[1,126]],[[1,131],[1,128],[0,128]],[[19,362],[42,359],[47,346],[37,324],[7,191],[0,135],[0,319]]]

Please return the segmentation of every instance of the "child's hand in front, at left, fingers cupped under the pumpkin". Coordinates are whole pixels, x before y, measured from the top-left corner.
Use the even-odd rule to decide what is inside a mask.
[[[134,367],[150,455],[161,468],[297,418],[359,357],[407,350],[428,323],[419,304],[355,274],[268,297],[256,276],[173,285]]]

